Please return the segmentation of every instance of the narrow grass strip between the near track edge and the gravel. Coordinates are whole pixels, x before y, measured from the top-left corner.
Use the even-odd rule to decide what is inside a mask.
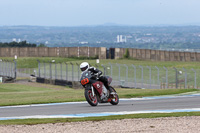
[[[152,114],[144,113],[144,114],[115,115],[115,116],[86,117],[86,118],[3,120],[0,121],[0,125],[16,125],[16,124],[35,125],[35,124],[46,124],[46,123],[103,121],[103,120],[136,119],[136,118],[183,117],[183,116],[200,116],[200,112],[152,113]]]

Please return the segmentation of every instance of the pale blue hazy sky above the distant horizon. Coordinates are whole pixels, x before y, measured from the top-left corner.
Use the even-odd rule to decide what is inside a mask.
[[[0,26],[200,25],[200,0],[0,0]]]

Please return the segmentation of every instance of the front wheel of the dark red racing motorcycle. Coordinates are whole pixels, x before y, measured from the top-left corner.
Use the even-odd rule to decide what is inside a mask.
[[[98,105],[97,95],[94,94],[94,96],[93,96],[91,89],[85,90],[85,98],[91,106],[97,106]]]

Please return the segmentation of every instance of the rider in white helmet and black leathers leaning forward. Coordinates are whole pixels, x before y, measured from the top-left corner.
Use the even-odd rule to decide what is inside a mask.
[[[89,63],[87,62],[81,63],[80,69],[82,72],[90,71],[92,75],[97,75],[97,77],[99,77],[99,81],[104,83],[104,86],[107,90],[110,91],[110,94],[114,94],[114,92],[112,92],[112,89],[108,85],[108,79],[105,76],[100,76],[102,74],[102,71],[96,69],[95,67],[90,67]]]

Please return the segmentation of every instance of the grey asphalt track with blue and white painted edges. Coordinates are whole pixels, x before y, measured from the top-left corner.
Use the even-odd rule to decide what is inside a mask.
[[[22,106],[0,106],[0,120],[192,111],[200,111],[200,94],[120,99],[118,105],[106,103],[99,104],[96,107],[90,106],[85,101]]]

